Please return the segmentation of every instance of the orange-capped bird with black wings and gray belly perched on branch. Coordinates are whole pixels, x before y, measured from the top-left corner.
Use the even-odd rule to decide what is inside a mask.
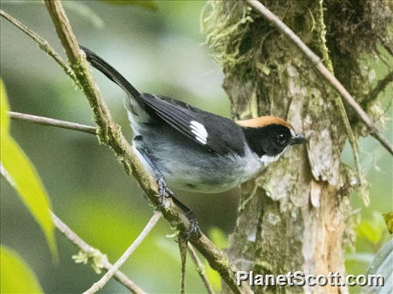
[[[194,214],[174,197],[172,188],[209,194],[230,190],[277,161],[289,147],[307,143],[280,117],[235,121],[170,97],[139,92],[107,61],[80,48],[91,66],[125,90],[132,148],[156,177],[161,204],[168,195],[190,218],[187,238],[201,232]]]

